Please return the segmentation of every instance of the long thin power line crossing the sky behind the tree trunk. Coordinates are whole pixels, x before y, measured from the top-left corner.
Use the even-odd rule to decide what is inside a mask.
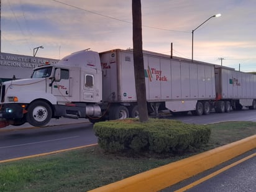
[[[98,16],[101,16],[101,17],[106,17],[108,19],[114,19],[116,21],[121,21],[121,22],[126,22],[127,24],[132,24],[132,22],[130,21],[125,21],[125,20],[122,20],[122,19],[117,19],[116,17],[111,17],[111,16],[106,16],[104,14],[100,14],[98,12],[94,12],[94,11],[89,11],[87,9],[83,9],[81,7],[76,7],[76,6],[73,6],[71,4],[67,4],[65,2],[62,2],[62,1],[57,1],[57,0],[52,0],[52,1],[55,1],[55,2],[58,2],[60,4],[64,4],[65,6],[69,6],[69,7],[73,7],[75,9],[80,9],[81,11],[86,11],[86,12],[89,12],[91,14],[96,14]],[[160,28],[160,27],[153,27],[153,26],[149,26],[149,25],[142,25],[143,27],[148,27],[148,28],[152,28],[152,29],[158,29],[158,30],[167,30],[167,31],[171,31],[171,32],[182,32],[182,33],[190,33],[188,31],[183,31],[183,30],[171,30],[171,29],[163,29],[163,28]]]

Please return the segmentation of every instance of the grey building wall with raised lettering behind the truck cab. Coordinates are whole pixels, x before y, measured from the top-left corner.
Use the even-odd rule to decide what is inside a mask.
[[[0,81],[30,78],[33,68],[46,63],[57,63],[52,58],[0,53]]]

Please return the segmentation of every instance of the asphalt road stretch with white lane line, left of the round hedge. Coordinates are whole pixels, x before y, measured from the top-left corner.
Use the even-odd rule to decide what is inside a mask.
[[[91,123],[0,132],[0,160],[96,143]]]

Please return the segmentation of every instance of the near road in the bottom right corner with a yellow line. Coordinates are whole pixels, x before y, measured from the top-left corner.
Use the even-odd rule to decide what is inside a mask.
[[[199,173],[161,192],[256,191],[256,149]]]

